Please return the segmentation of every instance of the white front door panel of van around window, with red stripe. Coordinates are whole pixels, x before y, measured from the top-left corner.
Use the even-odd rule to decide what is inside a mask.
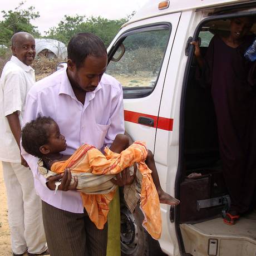
[[[121,31],[116,37],[116,41],[118,41],[119,38],[122,36],[122,34],[126,33],[126,31],[132,31],[132,29],[141,27],[141,25],[143,25],[144,27],[147,27],[150,25],[153,26],[154,24],[161,24],[161,23],[170,24],[170,27],[171,27],[170,38],[169,38],[168,46],[165,51],[163,63],[161,65],[163,67],[166,67],[169,61],[171,47],[173,46],[176,28],[178,27],[178,23],[179,23],[179,18],[180,18],[180,13],[175,13],[170,16],[155,17],[147,20],[146,22],[137,22],[136,26],[133,26],[134,24],[131,24],[130,26],[127,26],[121,29]],[[159,121],[159,125],[165,130],[173,129],[172,119],[170,118],[166,119],[164,117],[159,116],[159,105],[161,101],[161,94],[163,91],[165,75],[166,75],[166,68],[161,68],[155,88],[150,93],[149,96],[137,98],[137,99],[124,99],[125,130],[128,132],[128,134],[131,135],[133,140],[145,141],[147,147],[152,152],[154,152],[154,148],[155,148],[155,134],[156,134],[156,128],[158,125],[157,122]],[[138,123],[139,117],[150,117],[152,120],[154,120],[154,125],[151,127],[144,124],[139,124]],[[160,117],[160,120],[158,120],[159,117]]]

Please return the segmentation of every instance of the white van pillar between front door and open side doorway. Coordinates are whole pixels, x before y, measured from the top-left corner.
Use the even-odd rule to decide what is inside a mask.
[[[185,56],[185,47],[189,36],[191,36],[190,28],[193,27],[193,25],[196,26],[196,23],[199,22],[200,19],[201,15],[195,14],[193,11],[186,11],[181,14],[169,63],[167,66],[162,67],[166,69],[166,77],[159,116],[173,118],[173,130],[164,131],[157,127],[154,157],[161,186],[171,195],[175,194],[175,177],[179,161],[180,98],[188,58]],[[188,24],[190,24],[191,27],[188,26]],[[170,222],[170,211],[164,211],[162,208],[163,205],[161,205],[161,213],[162,219],[166,221],[166,225],[163,225],[163,235],[159,243],[165,253],[169,254],[170,251],[168,252],[164,247],[171,247],[171,244],[174,243],[173,252],[177,252],[178,248],[175,247],[178,247],[178,242],[176,240],[175,226]],[[168,244],[169,246],[167,246]],[[176,253],[176,255],[178,254]]]

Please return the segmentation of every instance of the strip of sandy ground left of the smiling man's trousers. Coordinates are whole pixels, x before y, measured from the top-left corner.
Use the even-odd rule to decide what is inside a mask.
[[[6,187],[3,182],[2,163],[0,162],[0,255],[12,255],[11,237],[8,226]]]

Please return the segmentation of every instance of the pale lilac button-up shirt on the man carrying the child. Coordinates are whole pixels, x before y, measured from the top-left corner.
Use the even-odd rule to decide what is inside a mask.
[[[95,91],[87,92],[85,104],[77,100],[65,69],[36,82],[27,95],[23,125],[38,115],[51,116],[66,137],[67,149],[72,155],[82,144],[97,149],[110,145],[117,134],[124,133],[124,107],[122,87],[115,78],[104,74]],[[72,213],[83,213],[80,193],[54,191],[46,186],[46,179],[38,173],[37,158],[23,154],[30,166],[35,188],[43,201]]]

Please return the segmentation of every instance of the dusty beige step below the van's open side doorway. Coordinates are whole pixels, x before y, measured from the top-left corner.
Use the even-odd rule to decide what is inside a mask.
[[[185,252],[193,256],[256,255],[256,220],[240,218],[225,225],[216,218],[196,224],[180,224]]]

